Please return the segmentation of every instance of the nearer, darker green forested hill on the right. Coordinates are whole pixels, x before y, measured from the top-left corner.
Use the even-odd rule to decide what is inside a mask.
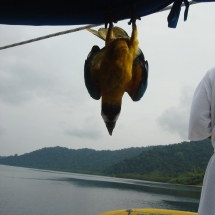
[[[135,157],[107,167],[104,173],[155,181],[188,180],[189,184],[196,184],[197,181],[202,181],[213,151],[209,139],[156,146],[151,151],[143,151]]]

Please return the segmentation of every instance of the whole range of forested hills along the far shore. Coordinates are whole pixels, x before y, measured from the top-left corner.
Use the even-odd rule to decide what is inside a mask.
[[[0,157],[0,164],[180,184],[201,184],[213,151],[209,139],[116,151],[52,147],[20,156]]]

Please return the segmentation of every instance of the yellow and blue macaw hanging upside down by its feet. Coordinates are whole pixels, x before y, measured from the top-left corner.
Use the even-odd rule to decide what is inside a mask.
[[[138,48],[137,27],[132,23],[131,37],[119,27],[88,29],[105,40],[105,47],[93,46],[84,65],[86,88],[93,99],[101,99],[101,115],[112,135],[120,115],[125,92],[139,101],[147,88],[148,62]]]

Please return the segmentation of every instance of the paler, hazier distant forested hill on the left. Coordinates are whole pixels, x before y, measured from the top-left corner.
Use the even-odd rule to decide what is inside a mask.
[[[151,147],[137,147],[116,151],[93,149],[43,148],[24,155],[0,159],[0,164],[70,172],[101,173],[106,167],[131,158]]]

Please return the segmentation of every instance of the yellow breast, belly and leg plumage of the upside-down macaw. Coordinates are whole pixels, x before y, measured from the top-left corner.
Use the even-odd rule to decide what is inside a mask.
[[[93,63],[96,66],[91,68],[91,73],[98,80],[102,102],[119,105],[132,81],[132,64],[138,52],[137,28],[133,29],[131,38],[116,38],[115,34],[109,28],[104,51],[95,57],[97,63]]]

